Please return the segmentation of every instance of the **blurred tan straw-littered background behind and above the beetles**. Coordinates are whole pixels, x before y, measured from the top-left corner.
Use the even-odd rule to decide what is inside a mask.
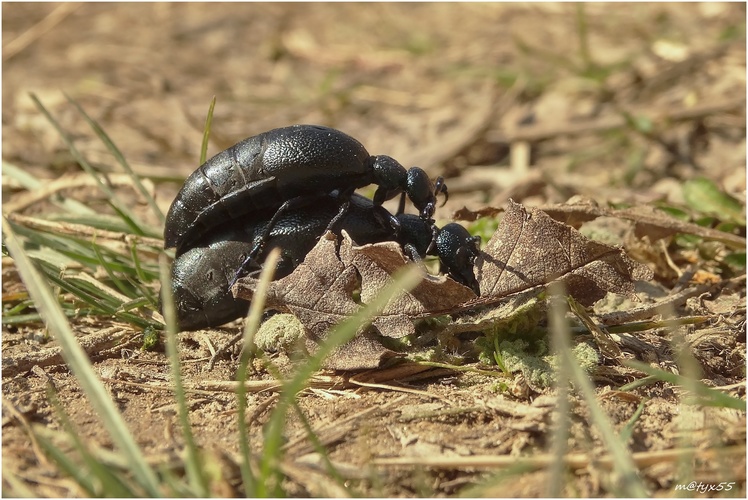
[[[65,95],[168,207],[208,151],[293,123],[443,175],[467,206],[745,192],[745,4],[5,3],[3,159],[78,167],[34,92],[100,168]],[[4,185],[6,189],[12,186]]]

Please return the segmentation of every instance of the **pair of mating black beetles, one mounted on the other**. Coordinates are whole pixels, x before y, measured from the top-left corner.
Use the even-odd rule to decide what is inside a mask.
[[[353,194],[372,183],[373,203]],[[327,127],[295,125],[235,144],[187,178],[167,215],[180,328],[217,326],[246,313],[231,284],[258,270],[274,246],[283,249],[276,277],[290,274],[326,229],[345,229],[358,244],[399,241],[413,259],[439,255],[443,270],[477,292],[478,240],[457,224],[434,226],[440,193],[447,195],[441,178],[434,184],[420,168],[371,156]],[[395,217],[381,205],[398,194]],[[406,194],[420,216],[402,213]]]

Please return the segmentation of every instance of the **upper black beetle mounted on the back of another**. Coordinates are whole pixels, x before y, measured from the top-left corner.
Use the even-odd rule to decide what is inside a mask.
[[[369,184],[379,186],[376,205],[402,194],[403,207],[407,193],[424,219],[434,214],[436,196],[447,196],[441,177],[434,184],[418,167],[406,170],[389,156],[371,156],[338,130],[318,125],[273,129],[221,151],[187,178],[166,216],[164,246],[186,250],[227,220],[271,207],[280,209],[279,219],[285,209],[310,205],[334,191],[347,200]],[[347,208],[341,203],[340,217]],[[266,236],[260,235],[260,244]]]

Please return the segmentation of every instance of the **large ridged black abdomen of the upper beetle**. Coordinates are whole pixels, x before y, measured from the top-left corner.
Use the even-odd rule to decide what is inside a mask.
[[[353,137],[318,125],[264,132],[221,151],[185,181],[169,209],[166,248],[196,240],[215,223],[304,194],[373,181],[372,160]]]

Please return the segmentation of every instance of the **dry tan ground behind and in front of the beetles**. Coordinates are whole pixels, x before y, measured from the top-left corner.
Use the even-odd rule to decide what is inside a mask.
[[[41,179],[79,171],[31,103],[33,91],[74,133],[90,161],[112,168],[66,92],[106,129],[135,170],[157,183],[164,211],[180,187],[175,181],[198,164],[214,95],[210,153],[291,123],[333,126],[373,154],[445,176],[451,196],[439,209],[442,219],[463,206],[500,207],[510,197],[527,205],[574,195],[601,204],[677,204],[683,201],[680,183],[697,176],[744,203],[744,4],[589,4],[581,11],[574,4],[4,3],[2,22],[3,161]],[[626,127],[623,111],[651,122]],[[102,201],[94,190],[79,191],[74,197],[87,203]],[[23,194],[3,177],[4,212]],[[133,204],[148,216],[142,200]],[[40,200],[22,213],[43,216],[50,210]],[[157,223],[152,216],[150,221]],[[661,250],[653,247],[649,254],[658,270],[656,287],[649,290],[668,293],[678,276],[662,264]],[[711,317],[708,329],[686,332],[687,345],[705,383],[742,399],[743,287],[738,281],[679,310]],[[19,289],[13,264],[4,259],[4,306]],[[108,318],[73,325],[81,336],[110,327],[112,336],[137,333]],[[209,343],[222,344],[237,328],[182,336],[187,383],[234,377],[234,359],[223,359],[210,372],[205,366]],[[54,346],[45,343],[41,324],[4,325],[2,335],[3,468],[40,496],[78,495],[29,446],[21,425],[60,428],[47,401],[47,382],[59,391],[82,436],[111,443],[64,365],[32,368],[40,364],[39,350]],[[639,353],[645,361],[683,369],[669,330],[641,339],[649,346],[646,356]],[[150,459],[174,462],[182,439],[173,395],[157,388],[168,386],[167,360],[163,352],[127,346],[94,353],[95,368]],[[610,364],[593,373],[615,428],[622,430],[632,417],[636,422],[628,445],[648,491],[675,495],[687,477],[734,484],[731,492],[709,496],[744,497],[745,412],[683,406],[679,389],[663,382],[618,391],[641,376]],[[505,390],[492,378],[452,373],[399,380],[397,388],[315,389],[300,398],[300,406],[360,494],[545,495],[554,392],[528,386],[521,374],[503,383]],[[269,390],[249,396],[255,445],[275,398]],[[235,396],[213,389],[191,394],[189,401],[196,439],[224,466],[219,484],[225,489],[215,494],[237,493],[237,472],[230,466],[238,451]],[[606,448],[590,426],[588,409],[578,396],[571,407],[569,451],[586,458],[569,470],[563,493],[614,495],[620,490],[599,460]],[[315,467],[298,419],[291,417],[288,425],[288,494],[339,494],[324,469]],[[677,450],[690,446],[697,449],[686,460],[690,473],[678,476]],[[735,447],[737,455],[728,454]],[[657,455],[663,450],[676,452]],[[507,472],[477,467],[471,456],[531,457],[541,466]],[[403,464],[383,460],[392,457]],[[424,465],[435,457],[445,465]],[[480,488],[471,489],[475,485]],[[9,487],[5,481],[3,486]]]

